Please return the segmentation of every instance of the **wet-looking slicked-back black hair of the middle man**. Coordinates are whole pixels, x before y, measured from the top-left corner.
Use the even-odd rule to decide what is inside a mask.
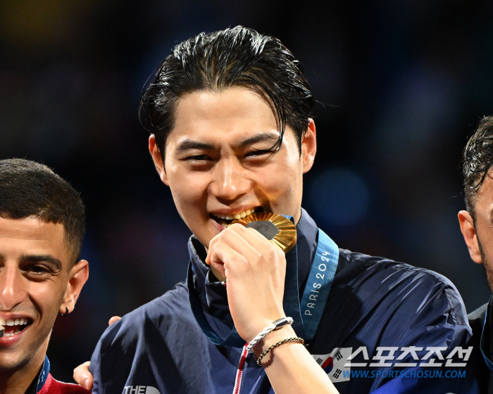
[[[237,26],[181,42],[150,78],[142,94],[139,117],[156,136],[163,161],[178,98],[194,91],[222,91],[228,87],[248,87],[266,98],[280,131],[275,147],[280,147],[289,125],[301,154],[301,140],[315,102],[303,67],[279,39]]]

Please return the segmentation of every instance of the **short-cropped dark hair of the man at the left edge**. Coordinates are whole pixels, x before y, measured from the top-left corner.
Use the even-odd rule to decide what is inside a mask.
[[[37,217],[63,224],[70,251],[68,267],[80,256],[85,209],[77,191],[46,165],[24,159],[0,160],[0,217]]]

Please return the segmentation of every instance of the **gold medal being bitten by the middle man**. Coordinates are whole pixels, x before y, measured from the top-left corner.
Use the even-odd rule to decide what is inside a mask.
[[[256,229],[274,245],[288,253],[296,243],[296,227],[291,220],[270,212],[258,212],[246,215],[242,219],[233,220],[229,225],[239,223],[244,227]]]

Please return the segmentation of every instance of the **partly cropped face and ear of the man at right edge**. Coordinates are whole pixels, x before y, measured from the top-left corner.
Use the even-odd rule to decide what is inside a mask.
[[[474,201],[475,222],[466,211],[458,213],[461,231],[474,262],[485,265],[493,291],[493,172],[490,169]]]

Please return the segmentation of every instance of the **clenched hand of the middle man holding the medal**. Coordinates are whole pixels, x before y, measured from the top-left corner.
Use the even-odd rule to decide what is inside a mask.
[[[232,224],[211,240],[206,262],[227,279],[231,316],[246,342],[285,317],[286,257],[258,231]]]

